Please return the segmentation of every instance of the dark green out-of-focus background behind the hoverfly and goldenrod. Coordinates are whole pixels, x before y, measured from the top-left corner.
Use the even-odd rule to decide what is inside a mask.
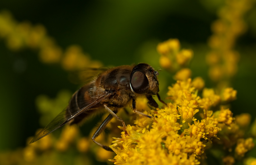
[[[155,51],[158,42],[178,38],[183,48],[194,50],[192,77],[201,76],[206,87],[208,80],[205,54],[207,39],[212,34],[211,22],[217,19],[216,10],[223,1],[57,1],[8,0],[0,1],[0,10],[9,10],[18,22],[42,24],[48,35],[63,48],[71,44],[82,46],[92,59],[106,66],[147,62],[159,67],[158,57],[143,57],[146,48]],[[238,38],[236,50],[241,54],[238,74],[232,80],[238,91],[232,112],[251,113],[255,118],[255,6],[246,13],[248,31]],[[157,55],[157,54],[156,54]],[[157,59],[157,60],[155,60]],[[21,68],[15,69],[15,66]],[[162,76],[167,74],[162,73]],[[25,49],[12,52],[0,39],[0,149],[25,146],[26,138],[39,128],[35,98],[46,94],[54,98],[61,89],[74,92],[77,86],[67,80],[59,65],[46,65],[38,60],[38,52]],[[161,76],[161,73],[160,75]],[[160,82],[161,83],[161,82]],[[168,85],[174,83],[172,75]],[[161,96],[166,97],[166,91]],[[63,105],[65,107],[65,105]]]

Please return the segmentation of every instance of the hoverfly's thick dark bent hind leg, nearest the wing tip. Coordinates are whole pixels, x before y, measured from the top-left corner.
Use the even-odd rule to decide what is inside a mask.
[[[114,111],[113,113],[116,113],[117,111]],[[103,145],[99,142],[95,141],[95,138],[97,138],[102,131],[106,128],[108,122],[110,122],[110,120],[113,118],[112,114],[109,114],[108,117],[101,123],[100,127],[96,130],[96,132],[94,133],[94,135],[92,136],[92,141],[96,144],[98,144],[100,147],[102,147],[103,149],[106,149],[107,151],[113,151],[110,147]]]

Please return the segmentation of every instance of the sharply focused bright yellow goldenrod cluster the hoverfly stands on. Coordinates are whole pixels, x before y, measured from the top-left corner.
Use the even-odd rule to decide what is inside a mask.
[[[197,78],[195,81],[201,80]],[[209,149],[209,143],[215,143],[222,144],[222,147],[224,144],[228,151],[236,145],[236,154],[223,155],[222,159],[224,164],[233,164],[238,155],[243,157],[252,149],[252,138],[240,139],[244,136],[241,132],[244,127],[240,125],[246,126],[249,122],[242,123],[241,117],[248,116],[243,114],[236,123],[230,109],[220,106],[222,94],[217,95],[213,89],[205,88],[201,98],[193,84],[203,82],[193,82],[190,78],[178,80],[168,87],[168,98],[173,104],[156,108],[150,113],[144,111],[153,115],[154,119],[137,117],[135,125],[127,127],[129,136],[122,132],[121,138],[114,138],[110,147],[117,155],[110,161],[114,164],[200,164],[202,158],[207,156],[205,150]],[[216,107],[220,109],[216,111]],[[202,119],[198,120],[195,116]],[[230,136],[231,132],[233,136]],[[238,135],[234,136],[234,132]]]

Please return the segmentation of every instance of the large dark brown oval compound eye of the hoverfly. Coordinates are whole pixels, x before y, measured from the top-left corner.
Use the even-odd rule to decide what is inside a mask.
[[[148,91],[148,78],[140,71],[133,73],[131,77],[131,87],[135,93],[143,94]]]

